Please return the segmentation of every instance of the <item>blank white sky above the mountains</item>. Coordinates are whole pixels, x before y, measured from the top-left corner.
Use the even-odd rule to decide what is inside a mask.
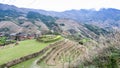
[[[71,9],[120,9],[120,0],[0,0],[0,3],[59,12]]]

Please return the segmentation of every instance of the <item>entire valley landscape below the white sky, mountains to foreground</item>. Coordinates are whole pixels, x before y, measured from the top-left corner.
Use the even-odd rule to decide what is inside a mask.
[[[0,68],[120,68],[119,13],[0,4]]]

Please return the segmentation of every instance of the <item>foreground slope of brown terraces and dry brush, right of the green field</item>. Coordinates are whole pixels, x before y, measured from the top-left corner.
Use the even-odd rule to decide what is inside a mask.
[[[98,42],[91,40],[83,45],[64,39],[46,47],[45,53],[11,68],[119,68],[119,35],[100,37]]]

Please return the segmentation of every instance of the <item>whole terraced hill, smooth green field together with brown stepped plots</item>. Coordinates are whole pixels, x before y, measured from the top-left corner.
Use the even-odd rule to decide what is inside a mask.
[[[80,54],[85,53],[85,50],[86,50],[85,47],[80,46],[79,44],[76,44],[68,39],[64,39],[61,36],[56,36],[55,38],[52,39],[51,37],[54,37],[54,36],[49,36],[49,35],[47,37],[46,36],[40,37],[41,39],[38,38],[37,40],[21,41],[19,45],[16,45],[16,46],[10,44],[4,48],[1,48],[1,52],[3,51],[2,52],[3,55],[1,54],[2,55],[1,64],[6,63],[7,61],[14,60],[15,58],[17,59],[22,56],[32,54],[34,52],[38,52],[40,49],[43,49],[43,53],[38,55],[37,58],[34,57],[32,59],[26,60],[20,64],[12,66],[11,68],[18,68],[18,67],[62,68],[62,66],[68,67],[73,60],[76,60],[76,58],[80,56]],[[48,41],[48,39],[50,40]],[[59,41],[55,42],[56,40],[59,40]],[[42,43],[39,43],[39,42],[42,42]],[[9,51],[5,51],[6,49],[8,49]],[[14,52],[15,50],[16,52]],[[11,54],[10,52],[13,52],[13,54]],[[10,58],[5,58],[5,59],[2,58],[5,56],[9,56]],[[14,57],[11,58],[11,56],[14,56]],[[8,66],[10,66],[9,63],[8,63]]]

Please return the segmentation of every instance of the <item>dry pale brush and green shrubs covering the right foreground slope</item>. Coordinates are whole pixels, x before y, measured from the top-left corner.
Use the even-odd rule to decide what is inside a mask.
[[[83,62],[84,64],[80,64],[80,67],[83,66],[83,68],[120,68],[120,33],[115,33],[113,35],[110,35],[110,37],[101,39],[100,43],[97,44],[96,48],[94,44],[87,44],[88,47],[92,46],[92,48],[89,48],[91,58],[89,61]],[[98,50],[98,49],[102,50]],[[94,52],[97,52],[96,55],[92,56]],[[87,56],[88,57],[88,56]]]

